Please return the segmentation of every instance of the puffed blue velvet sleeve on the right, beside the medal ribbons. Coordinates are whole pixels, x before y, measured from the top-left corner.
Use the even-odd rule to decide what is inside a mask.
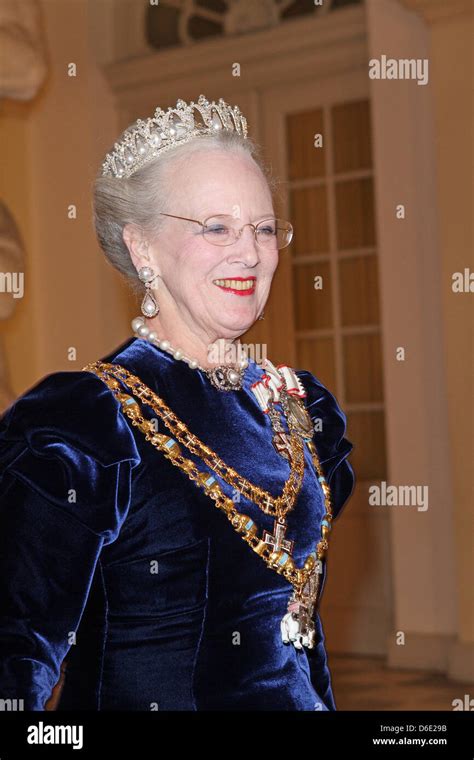
[[[314,433],[314,444],[321,467],[331,489],[333,518],[341,513],[355,484],[354,471],[347,459],[353,444],[345,437],[346,416],[335,396],[307,370],[296,370],[306,391],[305,406],[313,425],[321,420]],[[320,427],[320,429],[319,429]]]

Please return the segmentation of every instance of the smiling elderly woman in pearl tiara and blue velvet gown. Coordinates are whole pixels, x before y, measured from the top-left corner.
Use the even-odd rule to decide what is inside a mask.
[[[56,709],[335,710],[318,612],[345,416],[239,342],[292,227],[237,107],[138,120],[95,182],[135,335],[1,420],[0,694]],[[285,316],[282,315],[284,319]]]

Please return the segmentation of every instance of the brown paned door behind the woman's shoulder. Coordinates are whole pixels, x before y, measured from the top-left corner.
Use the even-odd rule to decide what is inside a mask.
[[[321,604],[328,649],[384,654],[389,522],[367,504],[372,479],[386,478],[386,454],[366,72],[265,90],[261,113],[267,159],[284,180],[278,213],[295,228],[266,308],[268,354],[336,395],[354,443],[357,485],[334,525]]]

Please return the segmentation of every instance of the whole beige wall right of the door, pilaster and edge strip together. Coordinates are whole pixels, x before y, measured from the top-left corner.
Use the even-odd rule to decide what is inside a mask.
[[[389,662],[472,682],[473,295],[451,284],[454,272],[474,268],[473,5],[367,5],[371,55],[427,57],[430,73],[424,87],[373,83],[390,475],[430,489],[422,519],[391,512]],[[407,206],[402,223],[396,203]],[[407,348],[405,366],[394,365],[397,345]]]

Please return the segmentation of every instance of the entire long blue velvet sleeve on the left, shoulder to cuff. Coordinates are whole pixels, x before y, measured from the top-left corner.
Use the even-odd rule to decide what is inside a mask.
[[[140,462],[94,374],[47,375],[0,419],[0,696],[44,710]]]

